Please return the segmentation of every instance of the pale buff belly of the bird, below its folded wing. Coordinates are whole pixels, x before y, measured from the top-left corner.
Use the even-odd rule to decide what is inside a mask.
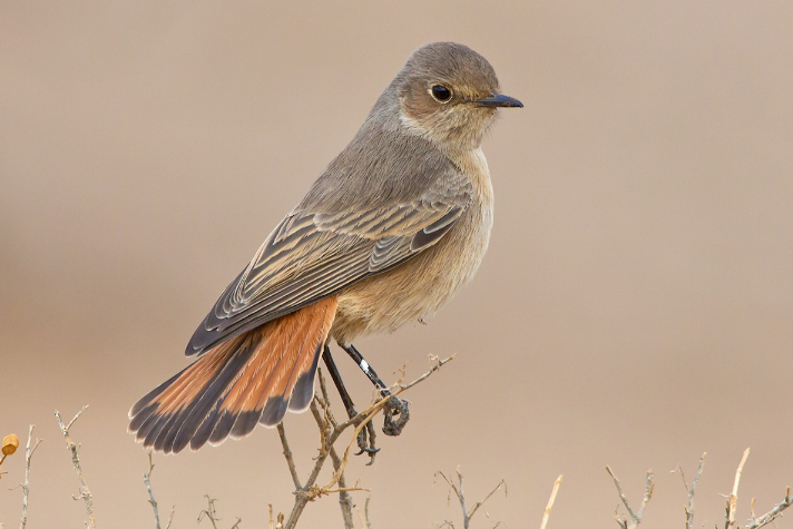
[[[345,287],[339,295],[331,335],[350,343],[355,336],[393,332],[433,314],[479,267],[491,226],[489,204],[471,207],[431,248]]]

